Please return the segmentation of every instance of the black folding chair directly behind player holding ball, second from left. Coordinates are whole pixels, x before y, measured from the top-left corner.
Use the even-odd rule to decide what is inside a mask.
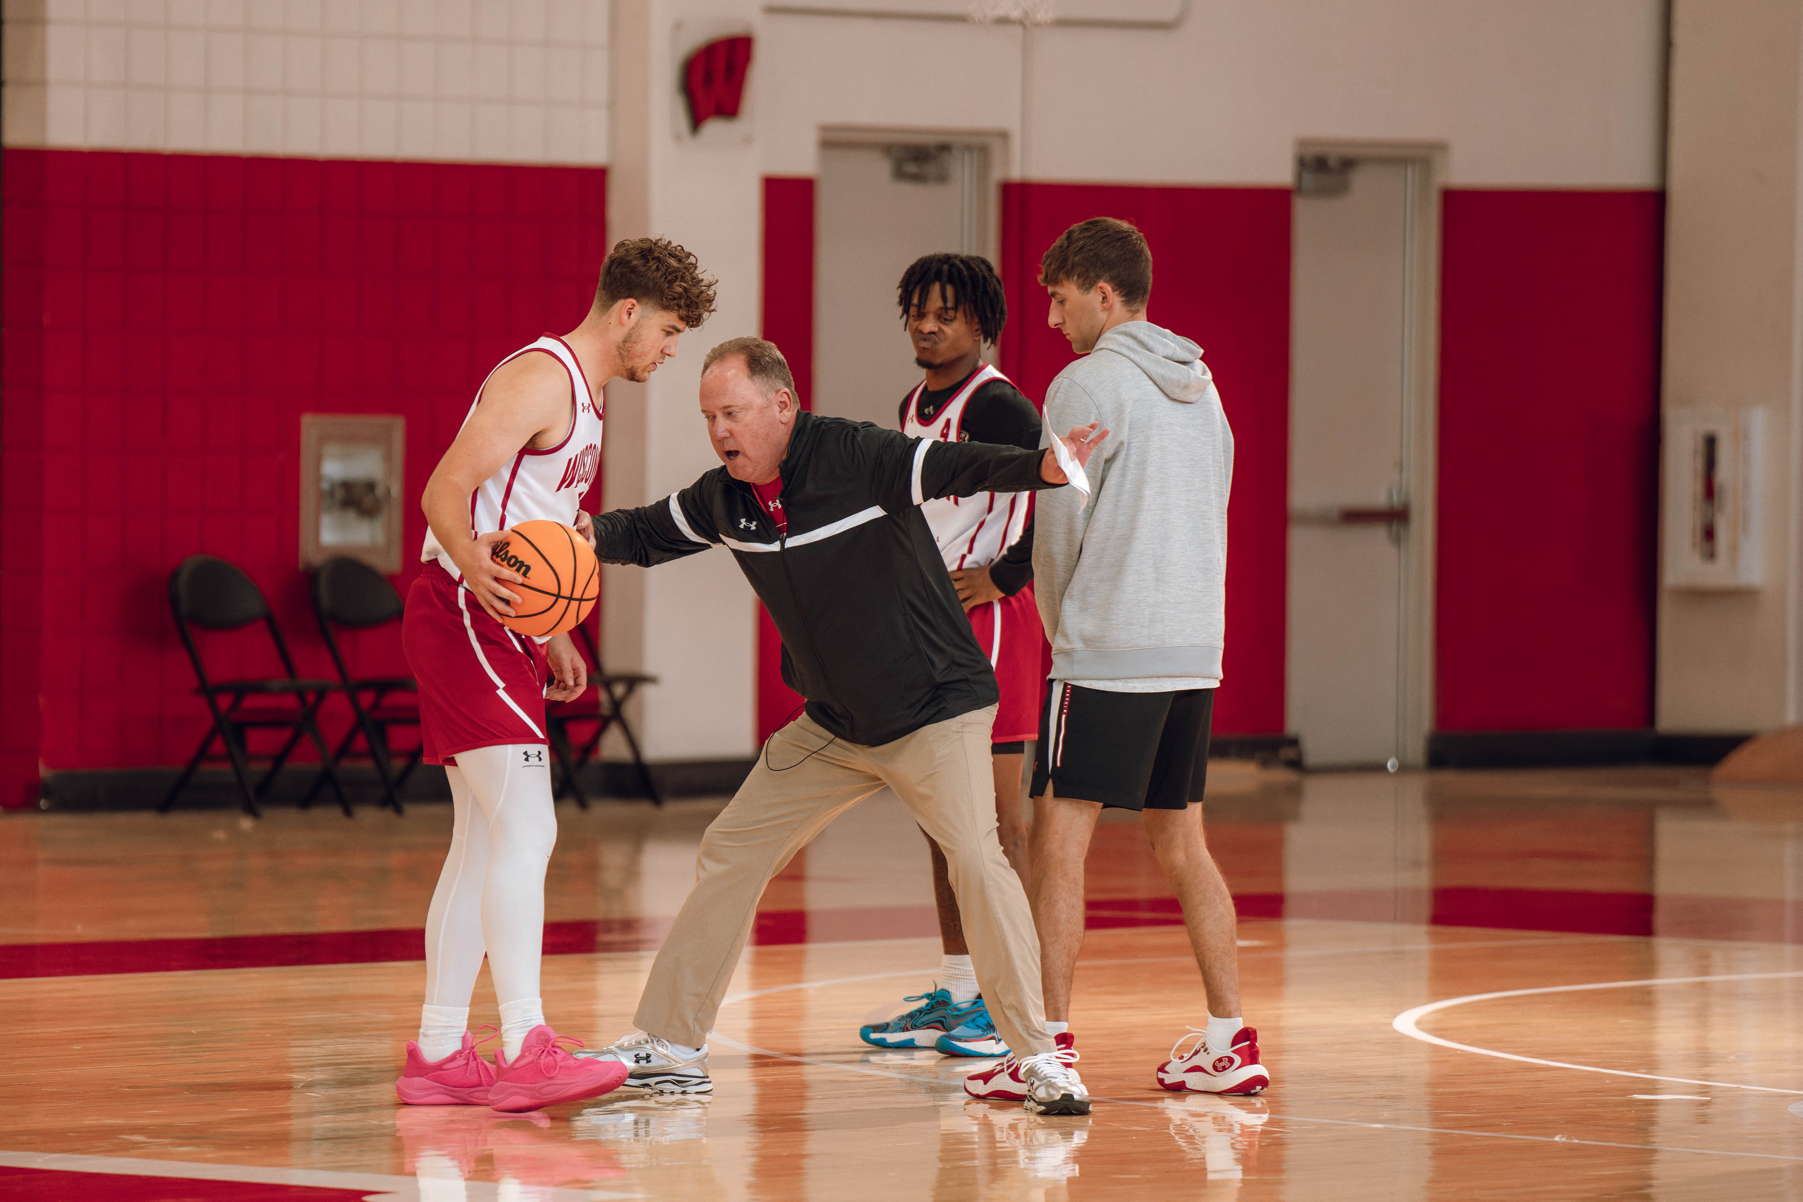
[[[344,732],[332,762],[343,762],[352,753],[352,744],[362,737],[364,753],[382,780],[386,797],[382,804],[393,807],[397,815],[406,813],[400,807],[400,789],[407,784],[413,769],[420,766],[424,746],[415,746],[407,753],[407,762],[397,777],[395,751],[388,732],[391,726],[418,726],[420,703],[416,696],[409,701],[395,699],[393,694],[418,694],[418,685],[411,676],[353,678],[344,663],[344,652],[339,649],[337,627],[368,631],[398,620],[404,609],[400,593],[388,582],[388,577],[359,559],[341,555],[328,559],[314,571],[314,615],[319,618],[319,636],[325,640],[326,651],[332,652],[339,683],[344,696],[350,697],[352,714],[357,717],[357,723]],[[319,784],[314,782],[316,793]]]

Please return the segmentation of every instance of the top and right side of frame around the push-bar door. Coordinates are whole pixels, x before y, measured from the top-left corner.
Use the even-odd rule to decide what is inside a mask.
[[[1340,155],[1408,166],[1403,357],[1403,479],[1408,526],[1401,546],[1397,638],[1399,768],[1424,768],[1433,730],[1433,580],[1439,508],[1441,189],[1444,142],[1296,139],[1295,157]],[[1304,748],[1307,755],[1307,748]]]

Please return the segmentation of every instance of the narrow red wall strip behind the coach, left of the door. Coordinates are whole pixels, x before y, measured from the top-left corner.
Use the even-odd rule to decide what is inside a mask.
[[[763,337],[788,359],[804,409],[813,407],[813,177],[764,177]],[[757,737],[788,723],[801,694],[783,683],[783,636],[757,604]]]

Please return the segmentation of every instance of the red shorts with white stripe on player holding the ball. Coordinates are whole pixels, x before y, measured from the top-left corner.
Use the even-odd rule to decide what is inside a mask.
[[[545,742],[545,647],[489,616],[438,564],[407,591],[400,645],[420,683],[427,764],[458,751]]]

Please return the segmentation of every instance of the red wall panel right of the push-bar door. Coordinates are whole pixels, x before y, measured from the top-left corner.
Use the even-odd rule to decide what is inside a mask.
[[[1662,225],[1444,193],[1439,730],[1652,724]]]

